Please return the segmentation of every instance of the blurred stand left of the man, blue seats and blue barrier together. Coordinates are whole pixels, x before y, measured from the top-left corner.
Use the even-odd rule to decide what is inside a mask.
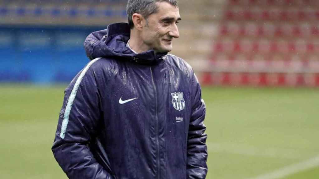
[[[70,82],[88,62],[83,42],[126,22],[124,0],[0,0],[0,82]]]

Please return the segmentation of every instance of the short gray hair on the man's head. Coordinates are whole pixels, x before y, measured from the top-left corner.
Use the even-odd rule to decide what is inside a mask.
[[[128,0],[126,6],[126,14],[128,17],[130,28],[134,28],[132,16],[134,13],[141,14],[146,20],[147,18],[158,11],[156,3],[167,2],[178,7],[177,0]]]

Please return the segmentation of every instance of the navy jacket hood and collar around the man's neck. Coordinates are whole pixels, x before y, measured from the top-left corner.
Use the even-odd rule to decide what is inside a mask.
[[[167,53],[155,53],[148,50],[135,54],[126,47],[130,39],[130,26],[127,23],[108,25],[107,29],[92,32],[84,41],[86,55],[90,60],[98,57],[134,61],[141,64],[153,64],[162,60]]]

